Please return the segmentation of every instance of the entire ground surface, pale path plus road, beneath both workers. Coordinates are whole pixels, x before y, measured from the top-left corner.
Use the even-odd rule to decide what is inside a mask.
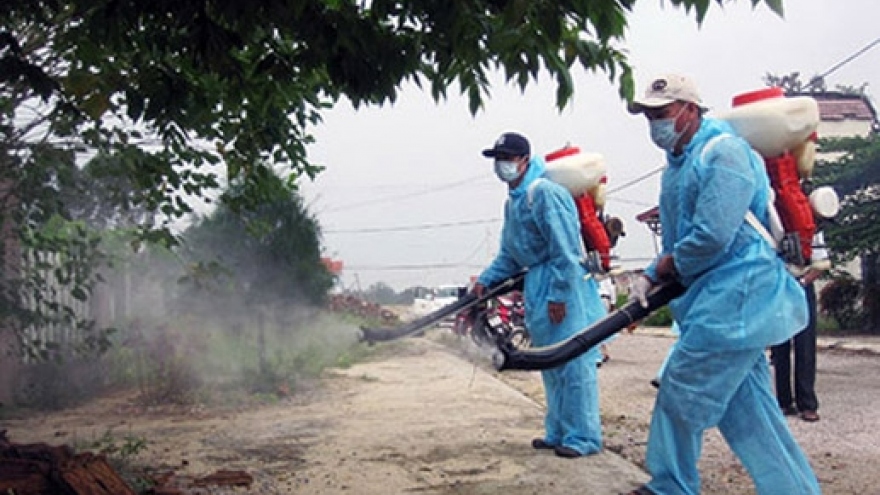
[[[532,450],[542,433],[538,373],[495,373],[448,330],[383,344],[381,356],[326,373],[319,386],[276,404],[144,409],[120,395],[55,414],[3,421],[20,443],[82,443],[107,431],[146,438],[135,461],[198,478],[219,469],[253,476],[247,489],[199,493],[566,494],[625,492],[647,480],[655,397],[649,380],[671,339],[621,335],[599,370],[606,452],[559,459]],[[818,423],[789,424],[826,494],[878,493],[880,358],[823,352]],[[717,431],[700,463],[705,494],[754,493]]]

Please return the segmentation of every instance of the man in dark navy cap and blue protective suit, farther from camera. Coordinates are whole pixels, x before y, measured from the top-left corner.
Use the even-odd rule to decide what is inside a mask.
[[[563,341],[605,314],[596,282],[581,264],[581,237],[571,193],[543,178],[545,165],[531,157],[528,140],[505,133],[492,148],[495,173],[507,183],[501,247],[474,286],[487,286],[527,269],[523,298],[526,327],[536,346]],[[542,372],[547,412],[545,435],[536,449],[565,458],[602,449],[602,426],[596,381],[597,350]]]

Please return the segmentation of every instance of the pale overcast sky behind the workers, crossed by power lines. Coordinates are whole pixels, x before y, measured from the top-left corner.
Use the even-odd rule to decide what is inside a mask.
[[[663,6],[665,4],[665,7]],[[764,5],[714,2],[702,27],[669,2],[642,0],[629,17],[625,45],[638,93],[655,75],[688,74],[704,102],[730,108],[731,98],[763,87],[765,74],[824,74],[880,38],[877,0],[787,0],[785,18]],[[829,89],[868,83],[880,91],[880,46],[831,72]],[[342,284],[396,290],[466,283],[498,247],[506,187],[480,151],[504,131],[517,131],[545,154],[566,143],[605,156],[606,211],[623,219],[627,236],[616,254],[626,268],[654,256],[647,228],[635,215],[656,204],[663,155],[643,118],[633,117],[605,74],[576,74],[573,102],[555,107],[546,74],[525,93],[498,79],[476,116],[453,95],[435,104],[407,88],[393,106],[353,110],[342,103],[325,114],[309,157],[327,169],[301,184],[324,229],[327,256],[345,263]]]

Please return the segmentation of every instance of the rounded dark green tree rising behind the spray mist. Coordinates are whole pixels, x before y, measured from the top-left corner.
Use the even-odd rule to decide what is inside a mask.
[[[183,234],[183,258],[202,267],[188,279],[196,299],[209,295],[215,311],[323,302],[333,275],[320,261],[317,221],[276,176],[227,194],[256,194],[247,187],[260,188],[258,206],[240,215],[218,208]]]

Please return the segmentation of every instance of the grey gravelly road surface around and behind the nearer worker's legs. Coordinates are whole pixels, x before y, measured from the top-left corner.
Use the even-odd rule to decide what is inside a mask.
[[[667,336],[621,334],[612,359],[599,370],[605,444],[644,467],[648,425],[656,397],[650,379],[673,342]],[[880,494],[880,356],[868,351],[820,349],[816,392],[822,417],[789,417],[826,495]],[[874,460],[872,460],[874,459]],[[699,463],[703,494],[754,494],[751,479],[717,429],[709,430]]]

